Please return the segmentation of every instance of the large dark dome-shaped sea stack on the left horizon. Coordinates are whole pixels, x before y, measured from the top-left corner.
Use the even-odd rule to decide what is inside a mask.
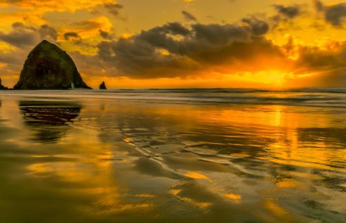
[[[26,59],[14,89],[91,89],[83,82],[74,61],[57,45],[42,41]]]

